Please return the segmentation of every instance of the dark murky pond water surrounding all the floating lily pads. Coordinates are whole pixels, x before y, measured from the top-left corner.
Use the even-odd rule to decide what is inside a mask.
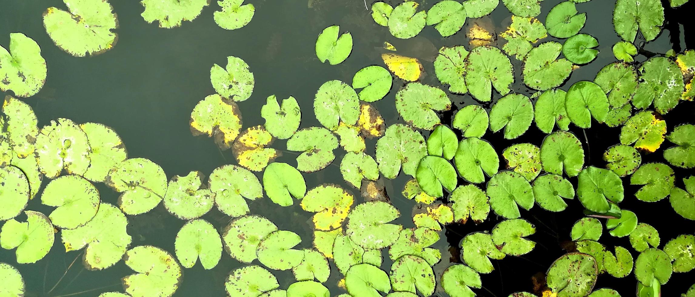
[[[191,170],[199,170],[209,175],[212,170],[228,163],[236,163],[231,150],[220,151],[213,139],[204,136],[192,136],[189,129],[190,112],[199,100],[215,93],[210,83],[210,67],[217,63],[226,64],[227,56],[243,58],[254,73],[255,88],[250,99],[240,102],[243,126],[263,125],[260,109],[265,98],[277,95],[278,98],[293,96],[302,107],[301,127],[320,126],[313,115],[313,97],[319,86],[325,81],[339,79],[350,83],[354,72],[367,65],[383,65],[381,54],[384,41],[391,42],[398,54],[419,58],[423,62],[426,75],[423,83],[440,86],[434,77],[432,61],[436,50],[444,45],[466,45],[468,38],[463,31],[450,38],[441,38],[432,26],[427,26],[416,37],[409,40],[393,38],[388,29],[378,26],[359,0],[295,0],[270,1],[251,0],[256,6],[252,22],[242,29],[227,31],[213,21],[213,11],[218,9],[215,1],[202,11],[193,22],[184,22],[175,29],[161,29],[156,24],[147,24],[140,13],[142,6],[138,1],[112,0],[118,15],[120,28],[117,29],[118,41],[115,47],[104,54],[89,58],[75,58],[58,49],[48,37],[42,25],[42,13],[46,8],[56,6],[63,8],[60,0],[35,1],[1,1],[0,3],[0,45],[8,47],[8,35],[22,32],[33,38],[42,47],[42,56],[48,65],[46,83],[40,93],[24,99],[30,104],[39,121],[39,127],[48,125],[50,120],[70,118],[74,122],[99,122],[112,127],[122,137],[129,157],[142,157],[158,163],[170,179],[174,175],[187,175]],[[386,1],[395,4],[400,1]],[[429,8],[436,1],[418,1],[423,8]],[[541,15],[545,15],[559,0],[546,0],[541,5]],[[370,3],[368,3],[370,4]],[[656,53],[665,53],[673,48],[682,51],[686,47],[695,48],[692,40],[693,22],[685,11],[694,11],[693,3],[682,8],[667,8],[667,26],[661,35],[649,42],[641,50],[636,60],[641,62]],[[571,77],[563,84],[567,90],[572,83],[592,80],[601,67],[612,63],[612,45],[619,41],[613,31],[612,9],[614,1],[594,0],[578,5],[580,13],[587,13],[587,24],[582,33],[588,33],[598,39],[600,54],[589,65],[574,70]],[[667,2],[664,2],[667,6]],[[489,17],[468,19],[467,22],[480,22],[486,29],[497,33],[506,30],[511,14],[500,3]],[[352,54],[339,65],[328,65],[318,61],[314,51],[316,36],[327,26],[339,24],[341,31],[349,31],[354,39]],[[689,37],[689,38],[688,38]],[[545,40],[556,40],[548,37]],[[543,40],[543,41],[545,41]],[[496,45],[501,47],[505,40],[498,38]],[[562,42],[562,40],[559,40]],[[534,93],[523,85],[521,80],[521,62],[512,58],[516,81],[513,92],[531,95]],[[374,105],[380,111],[386,125],[402,122],[395,106],[396,91],[404,84],[394,79],[389,95]],[[443,88],[446,89],[446,88]],[[8,93],[9,94],[9,93]],[[500,97],[493,92],[495,99]],[[470,95],[450,95],[455,103],[454,111],[468,104],[480,104]],[[4,95],[3,95],[4,97]],[[494,101],[493,101],[494,102]],[[489,104],[483,105],[489,108]],[[676,110],[664,116],[671,131],[678,124],[692,122],[695,113],[693,102],[682,102]],[[453,111],[443,114],[443,122],[450,124]],[[607,128],[594,125],[586,134],[580,129],[572,131],[588,143],[587,164],[603,166],[601,155],[607,147],[618,143],[619,128]],[[425,137],[427,131],[424,131]],[[543,134],[535,126],[521,138],[508,141],[501,133],[488,132],[485,138],[499,151],[514,143],[530,142],[540,145]],[[582,138],[582,136],[584,136]],[[367,141],[368,154],[374,154],[376,140]],[[665,144],[664,144],[665,145]],[[272,147],[285,150],[285,141],[275,141]],[[361,202],[359,190],[351,188],[341,177],[338,168],[343,150],[336,150],[336,161],[319,172],[304,174],[307,188],[319,184],[341,184]],[[276,161],[295,166],[296,155],[284,152]],[[662,161],[661,153],[644,156],[645,161]],[[504,166],[504,164],[500,164]],[[681,186],[680,179],[692,175],[689,170],[676,170],[676,186]],[[259,178],[261,174],[259,173]],[[400,209],[402,216],[396,223],[404,227],[413,227],[411,209],[415,203],[400,195],[404,183],[409,177],[400,176],[393,180],[384,180],[386,193],[391,202]],[[623,179],[629,184],[629,179]],[[576,179],[572,182],[575,184]],[[44,179],[44,185],[47,179]],[[97,184],[101,200],[116,204],[118,193]],[[649,223],[660,230],[662,244],[678,234],[695,230],[695,223],[673,213],[668,200],[648,204],[637,201],[632,193],[637,187],[626,186],[626,201],[621,207],[632,209],[640,222]],[[298,203],[282,208],[267,198],[249,202],[252,214],[270,218],[281,230],[291,230],[302,237],[298,248],[310,248],[312,240],[311,213],[303,211]],[[537,233],[530,239],[537,241],[534,251],[523,257],[507,257],[500,261],[493,260],[496,271],[482,275],[483,289],[474,289],[479,296],[503,297],[515,291],[531,291],[532,275],[545,272],[546,269],[566,251],[564,243],[569,241],[569,230],[575,220],[582,217],[582,207],[578,201],[569,202],[570,207],[560,214],[552,214],[534,207],[531,211],[522,211],[522,218],[536,225]],[[28,209],[48,214],[52,207],[40,203],[39,198],[31,200]],[[229,223],[229,216],[213,208],[202,218],[222,230]],[[489,220],[481,225],[450,225],[441,232],[441,240],[434,248],[442,251],[442,260],[434,266],[439,281],[441,272],[452,262],[461,262],[459,258],[459,241],[470,232],[491,230],[500,218],[491,214]],[[140,216],[129,216],[128,232],[133,236],[132,246],[153,245],[173,254],[174,237],[184,221],[167,213],[160,204],[156,209]],[[604,234],[602,242],[606,246],[630,246],[627,238],[616,239]],[[612,248],[610,248],[612,250]],[[60,234],[56,234],[56,243],[49,255],[35,264],[17,264],[14,250],[0,250],[0,262],[17,267],[24,276],[27,296],[98,296],[104,291],[122,291],[120,278],[132,271],[119,262],[104,271],[88,271],[81,261],[82,250],[65,252],[60,244]],[[391,266],[388,252],[384,250],[384,265]],[[634,251],[633,251],[634,253]],[[637,257],[637,254],[633,254]],[[77,259],[74,265],[70,265]],[[226,253],[222,260],[210,271],[205,271],[197,264],[183,271],[183,282],[174,296],[225,296],[224,279],[229,271],[243,266],[231,259]],[[68,267],[70,267],[68,269]],[[280,287],[286,289],[294,279],[289,271],[276,273]],[[344,293],[336,286],[341,278],[333,267],[331,278],[326,282],[332,296]],[[695,274],[674,273],[671,280],[663,287],[662,296],[678,296],[693,283]],[[623,279],[610,275],[598,278],[599,287],[618,289],[623,296],[634,294],[636,280],[632,275]],[[437,290],[436,296],[447,296]]]

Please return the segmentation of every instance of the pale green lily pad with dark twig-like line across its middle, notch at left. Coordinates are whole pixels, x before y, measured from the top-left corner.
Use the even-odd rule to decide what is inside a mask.
[[[111,168],[104,183],[121,193],[118,205],[131,216],[154,209],[167,191],[164,170],[142,158],[127,159]]]

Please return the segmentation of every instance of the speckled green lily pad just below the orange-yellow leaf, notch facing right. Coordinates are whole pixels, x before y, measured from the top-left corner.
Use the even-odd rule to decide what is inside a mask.
[[[432,130],[441,123],[435,111],[448,111],[451,99],[439,88],[414,82],[398,90],[395,108],[407,124],[418,129]]]

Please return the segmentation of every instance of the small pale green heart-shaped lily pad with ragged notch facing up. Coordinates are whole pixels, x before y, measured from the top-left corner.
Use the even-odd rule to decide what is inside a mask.
[[[302,111],[295,97],[282,99],[282,105],[280,105],[275,95],[270,95],[265,105],[261,107],[261,116],[265,119],[263,126],[270,135],[278,139],[287,139],[300,127]]]

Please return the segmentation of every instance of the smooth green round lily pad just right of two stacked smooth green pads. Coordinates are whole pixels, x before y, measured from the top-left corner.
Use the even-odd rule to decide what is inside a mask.
[[[485,176],[493,176],[497,173],[500,159],[490,143],[471,137],[459,143],[454,164],[459,176],[467,182],[480,184],[485,181]]]

